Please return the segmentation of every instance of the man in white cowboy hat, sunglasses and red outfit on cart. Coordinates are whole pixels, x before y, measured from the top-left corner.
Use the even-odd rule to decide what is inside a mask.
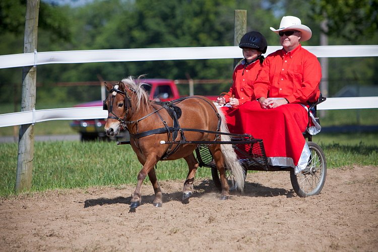
[[[239,123],[243,133],[263,139],[270,165],[295,167],[298,173],[310,156],[302,133],[308,104],[320,96],[322,70],[318,58],[301,46],[312,32],[299,18],[285,16],[279,29],[270,29],[280,36],[283,48],[264,60],[254,82],[256,100],[239,107]],[[319,124],[311,125],[312,135],[320,131]]]

